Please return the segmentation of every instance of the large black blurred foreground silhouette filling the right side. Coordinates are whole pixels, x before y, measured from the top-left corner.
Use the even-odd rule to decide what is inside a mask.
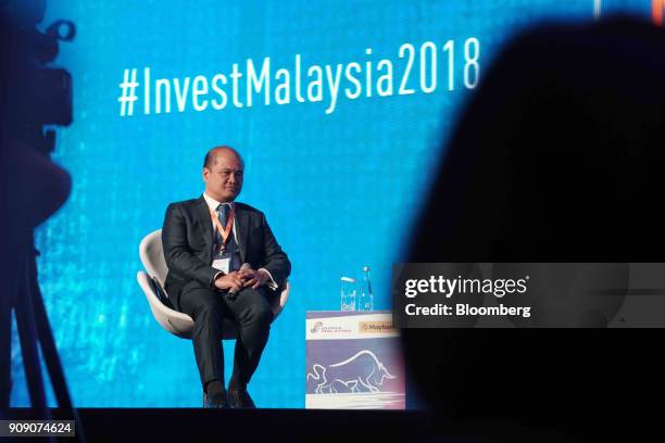
[[[664,80],[665,33],[645,23],[551,25],[513,40],[462,115],[409,261],[664,262]],[[498,439],[529,428],[542,431],[534,441],[636,438],[653,426],[663,330],[403,337],[437,414],[514,427]]]

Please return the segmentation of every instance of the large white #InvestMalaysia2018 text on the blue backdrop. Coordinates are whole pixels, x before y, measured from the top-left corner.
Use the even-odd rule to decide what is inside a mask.
[[[265,56],[260,62],[247,59],[242,64],[233,63],[226,73],[175,78],[158,78],[148,66],[142,76],[137,68],[126,68],[117,99],[120,115],[305,102],[322,102],[325,113],[331,114],[340,98],[432,93],[439,81],[446,84],[448,91],[455,87],[473,89],[478,84],[480,42],[475,37],[467,38],[460,48],[454,40],[442,46],[432,41],[419,47],[404,43],[397,56],[394,62],[375,59],[372,48],[365,49],[362,61],[325,65],[306,63],[301,54],[280,65]],[[139,102],[142,106],[135,109]]]

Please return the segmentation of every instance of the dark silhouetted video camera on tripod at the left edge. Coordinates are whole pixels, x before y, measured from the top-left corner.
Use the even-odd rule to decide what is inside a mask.
[[[15,319],[35,418],[49,418],[43,362],[58,404],[76,416],[38,284],[35,228],[66,201],[70,174],[52,162],[54,125],[72,122],[71,76],[50,63],[74,24],[57,21],[45,31],[46,0],[0,4],[0,417],[12,390],[11,330]],[[13,314],[13,315],[12,315]],[[83,432],[78,441],[85,441]]]

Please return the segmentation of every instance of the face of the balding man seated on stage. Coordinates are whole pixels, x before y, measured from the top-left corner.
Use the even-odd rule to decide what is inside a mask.
[[[242,161],[233,151],[215,153],[215,162],[203,168],[205,193],[219,202],[233,202],[242,190]]]

